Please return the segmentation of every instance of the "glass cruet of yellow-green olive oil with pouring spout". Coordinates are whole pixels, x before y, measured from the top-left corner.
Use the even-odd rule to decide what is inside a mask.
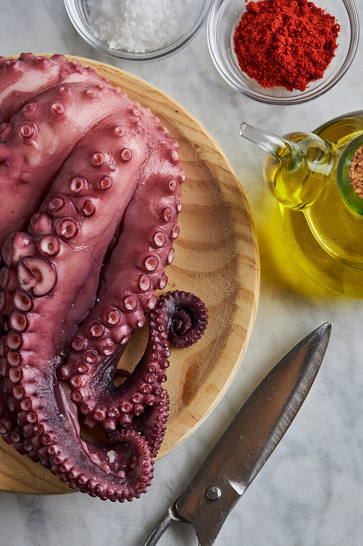
[[[241,123],[240,135],[268,152],[263,177],[295,261],[321,286],[363,298],[363,194],[349,175],[363,146],[363,111],[313,133],[281,138]]]

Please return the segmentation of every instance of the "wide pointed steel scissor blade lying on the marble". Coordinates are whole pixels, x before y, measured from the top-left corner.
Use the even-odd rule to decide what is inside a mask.
[[[214,543],[234,503],[261,470],[310,390],[328,346],[326,323],[296,345],[253,391],[176,503],[201,546]],[[211,487],[220,498],[209,500]],[[209,490],[210,491],[210,490]],[[218,491],[214,496],[218,496]],[[209,492],[209,496],[211,495]]]

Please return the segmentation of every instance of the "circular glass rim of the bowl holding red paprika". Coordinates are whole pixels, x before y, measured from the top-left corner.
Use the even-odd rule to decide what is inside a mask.
[[[356,9],[354,0],[342,0],[349,17],[350,44],[349,44],[347,56],[341,68],[338,70],[338,73],[334,76],[334,78],[332,78],[332,80],[328,84],[326,84],[325,86],[323,86],[316,92],[312,92],[311,95],[307,95],[305,97],[302,97],[299,95],[296,97],[281,97],[281,98],[257,97],[253,91],[250,91],[248,88],[242,90],[238,85],[234,83],[234,81],[232,81],[231,78],[229,78],[228,74],[226,74],[226,72],[223,70],[225,63],[222,62],[220,55],[216,51],[215,43],[217,43],[217,40],[214,39],[216,14],[224,1],[226,0],[214,0],[209,10],[208,27],[207,27],[208,50],[209,50],[211,60],[213,61],[215,68],[220,73],[222,78],[235,91],[238,91],[240,94],[243,94],[245,97],[248,97],[252,100],[257,100],[257,102],[261,102],[264,104],[273,104],[276,106],[279,106],[279,105],[287,106],[291,104],[302,104],[302,103],[308,102],[310,100],[313,100],[317,97],[322,96],[324,93],[328,92],[332,87],[334,87],[335,84],[337,84],[337,82],[341,80],[344,74],[346,74],[348,68],[350,67],[350,65],[352,64],[354,60],[356,51],[358,49],[359,34],[360,34],[358,11]]]

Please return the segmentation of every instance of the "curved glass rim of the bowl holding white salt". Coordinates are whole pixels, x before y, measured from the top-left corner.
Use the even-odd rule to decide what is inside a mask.
[[[162,48],[155,49],[154,51],[147,51],[145,53],[136,53],[125,50],[111,49],[105,47],[102,44],[102,40],[99,40],[93,33],[88,32],[88,30],[80,24],[81,21],[76,20],[72,7],[75,7],[79,0],[64,0],[64,5],[68,17],[78,32],[78,34],[86,41],[89,45],[92,45],[93,48],[97,49],[101,53],[104,53],[110,57],[117,58],[123,61],[156,61],[161,58],[169,57],[174,55],[180,49],[183,49],[200,31],[205,19],[207,18],[210,5],[212,0],[202,0],[203,5],[201,7],[201,13],[199,14],[198,19],[195,21],[195,24],[192,26],[190,31],[187,34],[182,35],[176,41],[172,42],[169,45],[166,45]],[[85,0],[84,0],[85,1]],[[77,18],[78,19],[78,18]]]

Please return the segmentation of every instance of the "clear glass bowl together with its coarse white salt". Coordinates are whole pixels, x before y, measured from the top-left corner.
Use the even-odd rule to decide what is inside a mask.
[[[112,57],[152,61],[197,34],[211,0],[64,0],[81,37]]]

